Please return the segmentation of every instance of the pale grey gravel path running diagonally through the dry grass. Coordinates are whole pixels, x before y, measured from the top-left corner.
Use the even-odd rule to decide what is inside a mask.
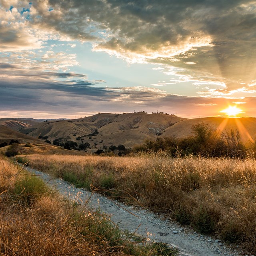
[[[148,237],[156,242],[164,242],[179,249],[180,255],[187,256],[240,256],[237,250],[228,248],[220,240],[210,236],[197,234],[188,227],[183,227],[177,222],[166,220],[160,215],[149,210],[126,206],[118,201],[110,200],[98,193],[91,193],[83,188],[75,188],[69,182],[60,178],[52,178],[50,175],[32,168],[26,168],[30,172],[40,176],[50,186],[68,196],[71,200],[86,202],[91,196],[89,206],[100,208],[102,212],[110,215],[111,220],[118,224],[121,230]]]

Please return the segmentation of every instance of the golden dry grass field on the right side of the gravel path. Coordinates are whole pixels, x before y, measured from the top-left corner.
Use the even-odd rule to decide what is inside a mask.
[[[29,156],[30,164],[78,186],[165,212],[202,233],[256,253],[256,160]]]

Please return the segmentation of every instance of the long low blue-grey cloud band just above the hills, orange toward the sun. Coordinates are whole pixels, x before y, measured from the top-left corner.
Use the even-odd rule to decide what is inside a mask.
[[[0,109],[1,111],[34,111],[49,115],[61,116],[78,115],[77,113],[94,112],[156,112],[156,110],[178,113],[183,117],[216,116],[234,99],[202,98],[172,95],[157,88],[143,86],[135,87],[96,87],[90,80],[81,80],[79,74],[63,75],[62,80],[52,80],[40,76],[38,78],[2,78],[0,80]],[[70,76],[77,75],[80,80],[70,80]],[[36,83],[35,83],[36,81]],[[102,81],[104,82],[104,81]],[[245,98],[248,105],[246,115],[254,111],[255,98]],[[215,103],[213,103],[215,102]],[[202,108],[206,106],[207,109]],[[94,112],[92,114],[94,114]],[[7,112],[6,112],[7,113]],[[86,114],[84,114],[86,115]]]

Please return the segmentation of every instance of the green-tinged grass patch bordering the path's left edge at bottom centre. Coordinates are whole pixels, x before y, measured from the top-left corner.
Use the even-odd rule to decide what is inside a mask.
[[[76,209],[77,206],[74,207]],[[77,214],[74,216],[73,225],[83,237],[102,247],[105,252],[107,250],[109,253],[131,256],[178,255],[178,250],[167,244],[145,242],[145,238],[138,238],[128,231],[121,232],[117,225],[100,212],[94,212],[89,216]]]

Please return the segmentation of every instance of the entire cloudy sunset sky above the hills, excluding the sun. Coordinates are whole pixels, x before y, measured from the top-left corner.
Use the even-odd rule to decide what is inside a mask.
[[[0,118],[256,116],[255,0],[0,0]]]

